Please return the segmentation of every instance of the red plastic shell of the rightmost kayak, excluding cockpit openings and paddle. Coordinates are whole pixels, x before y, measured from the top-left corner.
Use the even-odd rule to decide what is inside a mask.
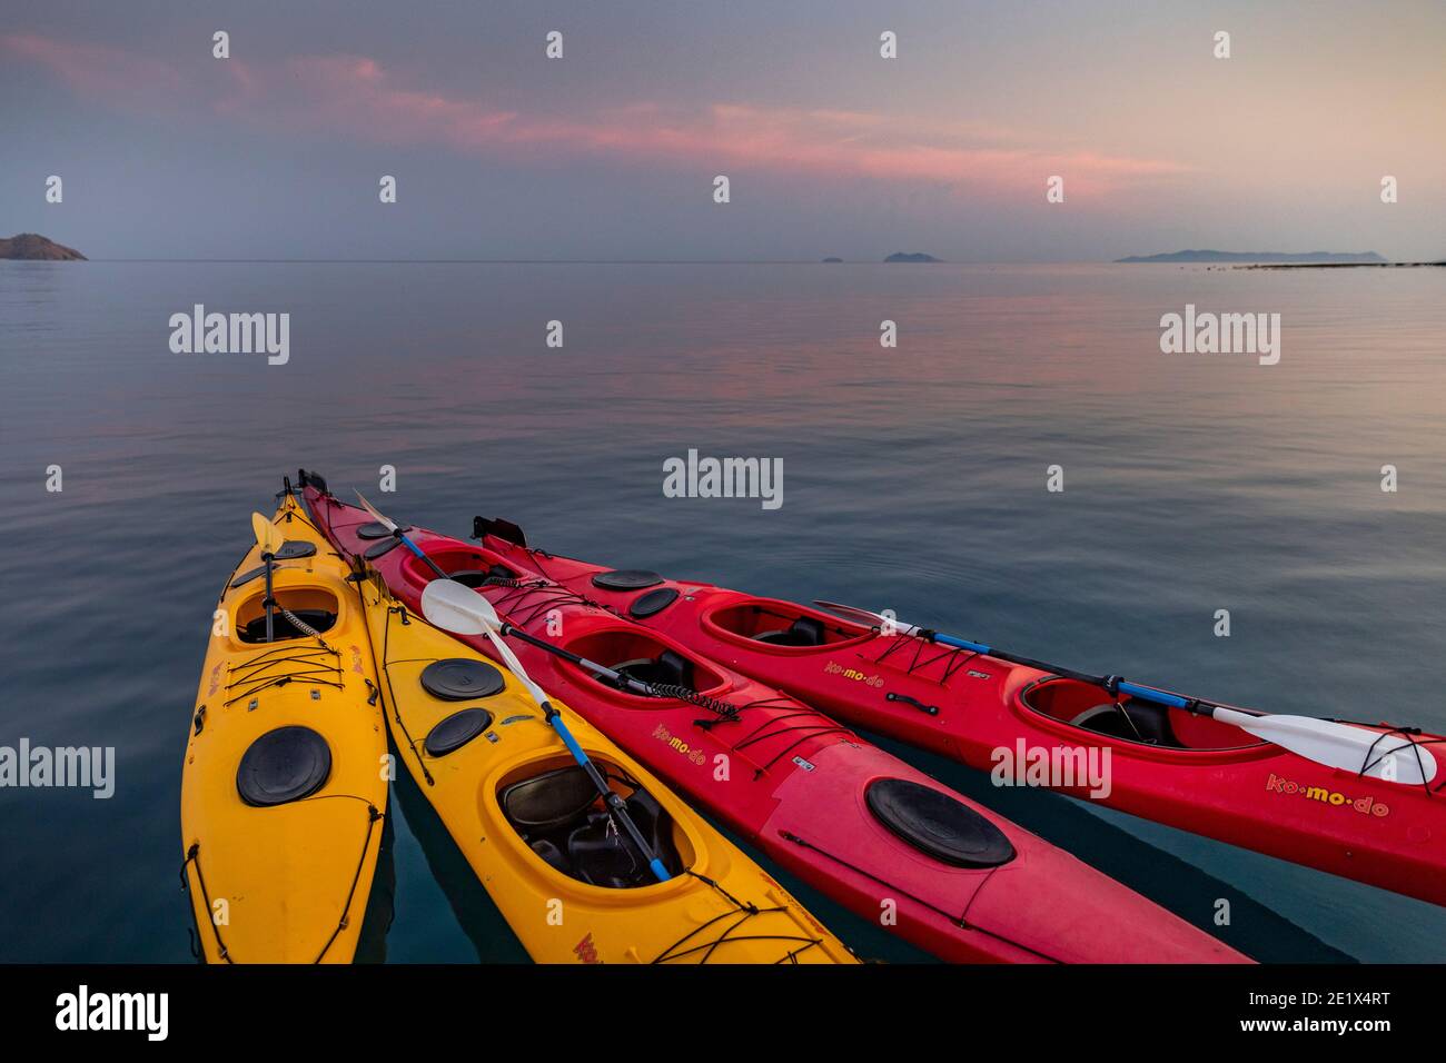
[[[513,563],[532,558],[538,571],[574,590],[586,587],[589,596],[622,616],[636,596],[593,586],[591,576],[609,571],[604,567],[539,554],[496,537],[487,537],[484,544]],[[1165,712],[1177,732],[1194,729],[1228,736],[1229,743],[1176,748],[1102,735],[1071,726],[1030,701],[1031,694],[1048,687],[1089,686],[1079,680],[938,646],[902,631],[882,633],[781,599],[675,580],[649,590],[659,587],[677,589],[678,597],[659,613],[629,622],[665,632],[696,652],[777,684],[839,719],[983,771],[993,771],[998,751],[1017,751],[1021,739],[1027,749],[1038,748],[1045,755],[1056,749],[1096,749],[1102,755],[1108,749],[1108,797],[1090,797],[1090,788],[1080,784],[1054,788],[1180,830],[1446,904],[1446,793],[1439,793],[1440,782],[1429,791],[1330,768],[1255,739],[1233,725],[1174,707]],[[753,605],[823,619],[855,633],[818,646],[785,646],[758,642],[717,622],[730,609]],[[920,648],[937,662],[951,658],[964,667],[947,675],[943,667],[934,667],[933,673],[897,667],[888,658],[901,645]],[[829,661],[840,668],[829,668]],[[853,680],[850,670],[878,677],[882,684]],[[889,693],[938,712],[928,714],[908,700],[889,701]],[[1099,691],[1098,703],[1109,700]],[[1132,699],[1122,701],[1131,704]],[[1358,726],[1382,735],[1398,730],[1390,725]],[[1424,735],[1421,740],[1440,739]],[[1306,793],[1316,797],[1300,800]],[[1385,813],[1379,811],[1382,807]]]

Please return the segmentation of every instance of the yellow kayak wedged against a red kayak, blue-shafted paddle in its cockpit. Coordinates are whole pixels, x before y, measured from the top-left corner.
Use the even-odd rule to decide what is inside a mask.
[[[658,881],[510,673],[357,594],[408,771],[539,963],[853,963],[778,882],[562,704],[565,725],[662,859]]]

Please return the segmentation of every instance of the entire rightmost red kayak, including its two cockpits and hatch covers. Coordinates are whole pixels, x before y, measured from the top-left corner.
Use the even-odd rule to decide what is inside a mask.
[[[1148,687],[1163,697],[1145,700],[1109,680],[941,645],[933,632],[555,557],[526,548],[505,521],[477,518],[476,532],[510,568],[535,571],[842,720],[991,771],[1002,785],[1050,785],[1446,904],[1446,769],[1437,767],[1446,739],[1437,735],[1352,725],[1368,732],[1364,748],[1374,759],[1362,758],[1359,769],[1327,767],[1207,714],[1229,706]],[[1387,749],[1426,767],[1400,781],[1366,774]],[[1108,769],[1108,787],[1090,777],[1090,764]]]

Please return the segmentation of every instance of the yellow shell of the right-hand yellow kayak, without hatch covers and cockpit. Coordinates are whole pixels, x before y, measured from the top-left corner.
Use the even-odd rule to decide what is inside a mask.
[[[690,874],[612,889],[564,875],[539,859],[506,820],[499,795],[510,782],[574,764],[541,709],[505,667],[497,667],[505,687],[496,694],[464,701],[431,697],[419,683],[428,664],[482,655],[408,615],[375,571],[357,581],[357,596],[380,662],[388,725],[403,764],[534,960],[856,962],[788,891],[562,703],[555,704],[589,756],[600,767],[620,769],[668,813],[675,842],[681,834],[680,856]],[[393,616],[399,618],[396,625]],[[396,658],[395,645],[402,646]],[[435,725],[467,707],[493,713],[484,733],[442,756],[428,754],[427,730],[418,725]]]

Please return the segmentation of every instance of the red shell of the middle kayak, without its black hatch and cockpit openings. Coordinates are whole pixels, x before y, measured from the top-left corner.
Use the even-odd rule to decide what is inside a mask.
[[[356,529],[367,518],[307,482],[305,498],[318,526],[343,552],[366,550]],[[409,538],[448,571],[508,564],[529,573],[503,551],[437,535],[419,528]],[[373,554],[393,594],[415,603],[434,573],[406,551]],[[518,602],[518,589],[490,587],[487,596],[508,619],[547,635],[547,594]],[[523,597],[538,592],[522,590]],[[564,615],[564,645],[594,635],[636,635],[639,626],[576,600],[552,603]],[[516,644],[534,678],[549,694],[571,703],[591,723],[646,764],[668,784],[719,816],[746,840],[804,881],[842,901],[868,920],[886,915],[901,937],[950,960],[970,962],[1244,962],[1245,957],[1213,937],[1158,908],[1069,853],[1021,830],[996,814],[954,794],[923,772],[872,746],[816,709],[730,671],[726,662],[700,659],[667,635],[652,632],[664,648],[710,668],[720,684],[706,690],[726,697],[743,713],[763,719],[755,730],[729,742],[719,730],[727,723],[707,720],[688,703],[641,699],[603,686],[571,664]],[[482,636],[463,638],[490,657]],[[791,742],[772,759],[748,758],[739,746],[761,740],[759,732],[779,716],[817,720],[817,732]],[[735,720],[736,722],[736,720]],[[732,723],[732,722],[729,722]],[[687,736],[684,740],[680,736]],[[681,746],[681,748],[680,748]],[[697,755],[694,755],[697,754]],[[733,771],[733,758],[752,759],[752,769]],[[716,771],[729,765],[723,778]],[[1004,830],[1015,856],[1001,866],[949,866],[901,842],[863,804],[870,784],[908,780],[946,794],[959,806]],[[882,918],[888,926],[888,918]]]

